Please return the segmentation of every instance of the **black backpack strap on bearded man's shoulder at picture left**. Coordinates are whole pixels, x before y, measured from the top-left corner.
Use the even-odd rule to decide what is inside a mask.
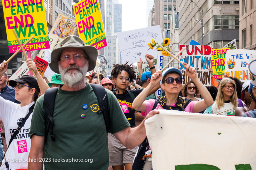
[[[45,138],[50,135],[52,141],[55,141],[55,136],[53,135],[54,121],[52,119],[54,111],[54,101],[59,87],[53,87],[46,90],[44,93],[44,120],[45,120]]]

